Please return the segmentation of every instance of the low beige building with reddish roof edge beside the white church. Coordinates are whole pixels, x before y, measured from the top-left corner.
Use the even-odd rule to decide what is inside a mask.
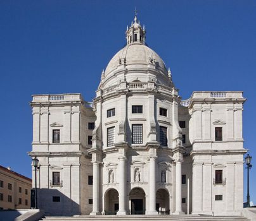
[[[32,179],[0,165],[0,209],[30,208]]]

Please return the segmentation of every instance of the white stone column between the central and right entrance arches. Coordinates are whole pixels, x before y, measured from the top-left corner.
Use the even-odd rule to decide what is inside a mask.
[[[157,157],[150,157],[150,180],[149,180],[149,210],[147,214],[158,214],[156,206],[156,189],[155,189],[155,160]]]

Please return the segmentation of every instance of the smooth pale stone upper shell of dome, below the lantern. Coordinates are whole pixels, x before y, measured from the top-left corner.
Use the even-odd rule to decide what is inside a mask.
[[[110,60],[108,66],[105,70],[105,76],[108,76],[112,73],[113,70],[117,68],[122,63],[125,63],[127,69],[129,66],[133,64],[139,64],[148,66],[148,64],[155,64],[156,69],[161,71],[163,74],[168,76],[167,69],[165,67],[165,63],[158,54],[150,49],[150,47],[140,44],[133,43],[126,45],[123,49],[117,52],[115,56]]]

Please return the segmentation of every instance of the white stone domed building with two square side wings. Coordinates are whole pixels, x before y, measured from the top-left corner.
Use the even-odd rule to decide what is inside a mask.
[[[135,17],[93,104],[80,94],[33,95],[29,155],[39,158],[46,213],[240,215],[243,92],[182,101],[145,36]]]

